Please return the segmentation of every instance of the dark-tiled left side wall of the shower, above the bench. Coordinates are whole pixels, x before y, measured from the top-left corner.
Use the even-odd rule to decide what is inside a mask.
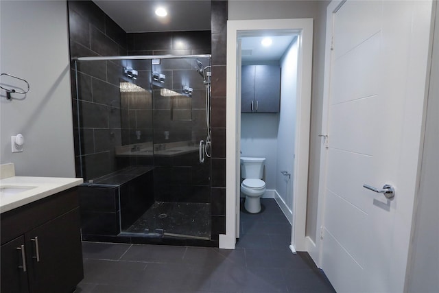
[[[95,3],[68,1],[68,7],[71,57],[126,55],[126,32]],[[105,60],[78,62],[78,93],[75,63],[71,66],[76,174],[89,180],[117,169],[123,66]]]

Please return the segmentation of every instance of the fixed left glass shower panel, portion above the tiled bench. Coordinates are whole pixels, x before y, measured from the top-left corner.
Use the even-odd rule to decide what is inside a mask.
[[[152,165],[152,153],[139,152],[152,151],[150,60],[77,60],[75,69],[78,175],[88,182],[132,165]]]

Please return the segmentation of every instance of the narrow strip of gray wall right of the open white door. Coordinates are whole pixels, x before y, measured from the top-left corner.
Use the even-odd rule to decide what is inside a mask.
[[[439,5],[425,126],[424,151],[420,171],[418,206],[415,210],[407,292],[434,292],[439,288]]]

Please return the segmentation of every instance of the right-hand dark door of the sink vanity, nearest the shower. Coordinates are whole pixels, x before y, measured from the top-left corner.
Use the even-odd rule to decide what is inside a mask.
[[[25,234],[32,292],[75,290],[84,277],[79,227],[80,211],[76,208]]]

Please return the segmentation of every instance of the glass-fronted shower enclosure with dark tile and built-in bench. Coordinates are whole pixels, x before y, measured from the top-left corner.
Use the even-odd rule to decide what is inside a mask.
[[[211,238],[211,56],[76,58],[82,235]]]

